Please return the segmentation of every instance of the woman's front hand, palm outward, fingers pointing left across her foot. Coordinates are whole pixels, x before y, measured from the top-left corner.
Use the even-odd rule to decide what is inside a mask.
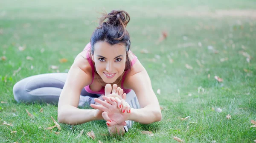
[[[117,103],[115,101],[112,101],[110,97],[102,96],[102,98],[105,99],[105,101],[107,102],[99,100],[97,98],[95,98],[94,100],[103,106],[91,104],[91,107],[104,111],[102,113],[102,117],[105,121],[107,121],[108,127],[114,126],[116,124],[125,126],[125,121],[128,120],[129,113],[121,112],[120,108],[117,107]]]

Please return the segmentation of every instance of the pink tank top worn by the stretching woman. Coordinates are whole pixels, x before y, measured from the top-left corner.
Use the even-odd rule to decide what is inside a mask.
[[[90,66],[92,67],[92,76],[93,76],[93,80],[94,80],[94,73],[95,73],[95,69],[94,69],[94,65],[93,65],[93,61],[92,61],[92,59],[90,58],[90,48],[91,48],[91,44],[90,44],[90,42],[85,46],[85,48],[84,48],[84,50],[87,50],[88,52],[87,52],[87,55],[86,55],[86,58],[87,58],[87,60],[88,60],[88,62],[89,62],[89,64],[90,64]],[[131,52],[132,53],[132,52]],[[134,55],[134,53],[132,53],[133,55]],[[137,61],[137,56],[135,56],[134,55],[134,58],[133,58],[133,60],[131,61],[131,67],[134,65],[134,63]],[[131,91],[131,89],[125,89],[124,88],[124,81],[125,81],[125,76],[127,75],[127,73],[129,72],[130,70],[127,70],[127,71],[125,71],[125,73],[124,73],[124,75],[123,75],[123,77],[122,77],[122,81],[121,81],[121,87],[122,87],[122,89],[124,90],[124,93],[129,93],[130,91]],[[92,80],[92,82],[90,83],[90,85],[93,83],[93,80]],[[86,87],[84,87],[84,89],[88,92],[88,93],[92,93],[92,94],[105,94],[105,88],[104,87],[102,87],[102,89],[101,90],[99,90],[99,91],[92,91],[91,89],[90,89],[90,85],[87,85]]]

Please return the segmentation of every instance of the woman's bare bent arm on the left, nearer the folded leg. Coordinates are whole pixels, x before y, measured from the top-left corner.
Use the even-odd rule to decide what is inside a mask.
[[[87,59],[78,55],[70,67],[58,101],[58,121],[60,123],[76,125],[102,119],[101,116],[96,116],[99,110],[77,108],[82,88],[92,81],[89,66]]]

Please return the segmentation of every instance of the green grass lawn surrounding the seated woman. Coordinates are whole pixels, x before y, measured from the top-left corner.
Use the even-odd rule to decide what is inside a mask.
[[[189,17],[184,13],[198,11],[205,14],[217,10],[254,10],[255,13],[255,6],[254,0],[2,1],[0,56],[7,59],[0,61],[0,101],[7,104],[0,104],[0,122],[12,123],[14,126],[7,127],[17,133],[11,134],[6,125],[0,125],[0,142],[98,143],[101,140],[104,143],[176,143],[172,139],[174,136],[186,143],[212,143],[212,140],[217,143],[253,142],[256,140],[256,129],[250,128],[250,120],[256,120],[256,19],[252,17],[253,13],[250,17]],[[123,9],[131,15],[127,27],[131,35],[131,50],[148,71],[155,93],[157,89],[161,90],[157,98],[164,108],[163,119],[149,125],[136,123],[123,137],[109,136],[104,121],[73,128],[61,124],[62,130],[56,135],[44,128],[54,125],[51,116],[57,120],[57,106],[19,104],[13,98],[12,87],[28,76],[56,72],[50,65],[58,65],[60,72],[69,69],[76,55],[90,41],[97,25],[93,21],[100,16],[96,11],[104,7],[108,12]],[[161,31],[168,31],[169,35],[157,45]],[[198,42],[201,42],[201,47]],[[188,43],[188,47],[180,46]],[[18,50],[20,45],[26,45],[26,50]],[[208,46],[219,53],[209,50]],[[142,49],[150,53],[140,53]],[[250,63],[239,53],[241,50],[253,57]],[[172,64],[168,55],[174,61]],[[34,60],[26,60],[26,56]],[[227,61],[220,62],[226,57]],[[61,64],[58,61],[61,58],[68,59],[68,62]],[[152,62],[153,58],[156,62]],[[187,69],[185,64],[193,69]],[[13,76],[19,67],[21,70]],[[246,73],[244,69],[251,72]],[[218,82],[214,76],[224,81]],[[200,86],[204,93],[198,93]],[[221,108],[222,112],[215,112],[212,107]],[[39,112],[41,108],[43,113]],[[31,119],[25,109],[35,118]],[[230,120],[226,119],[227,114],[232,116]],[[180,120],[186,116],[190,118]],[[76,138],[82,129],[83,135]],[[86,135],[91,130],[96,140]],[[141,134],[143,130],[153,132],[154,136]]]

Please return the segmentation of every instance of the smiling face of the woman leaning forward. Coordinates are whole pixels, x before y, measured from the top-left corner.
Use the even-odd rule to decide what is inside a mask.
[[[126,50],[123,44],[96,42],[93,61],[96,71],[105,83],[113,83],[125,70]]]

